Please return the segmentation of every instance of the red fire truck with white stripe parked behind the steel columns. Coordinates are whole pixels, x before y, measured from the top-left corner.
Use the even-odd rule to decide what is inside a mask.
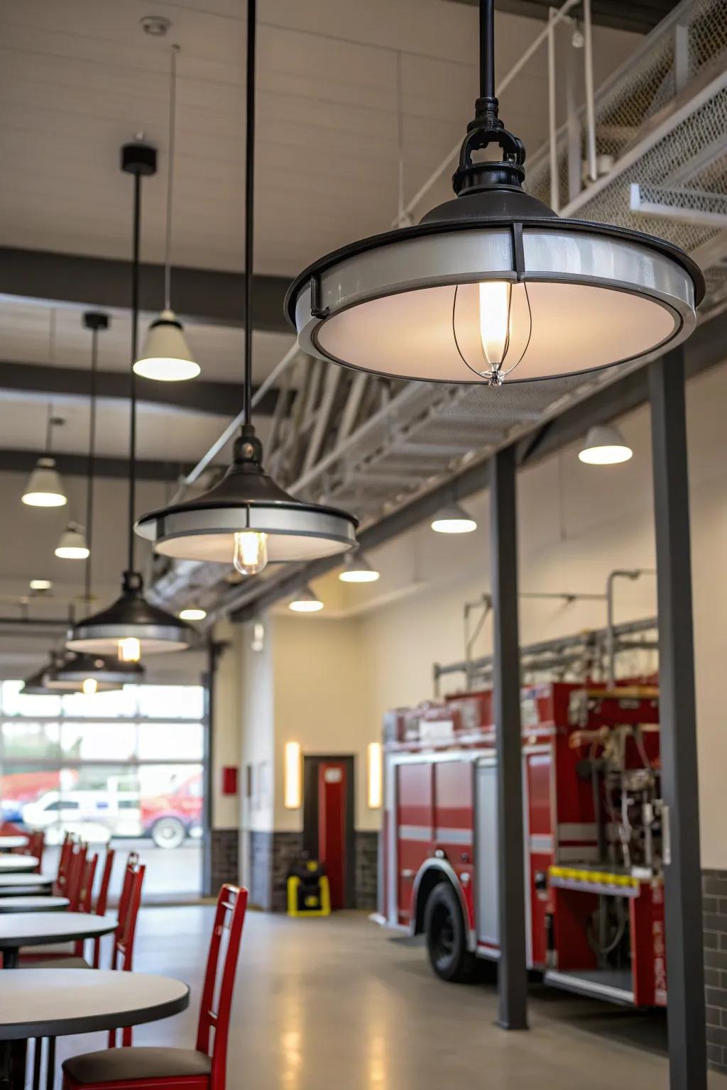
[[[379,913],[425,933],[434,971],[497,960],[497,764],[490,691],[385,718]],[[666,1005],[658,690],[522,692],[529,967],[547,982]]]

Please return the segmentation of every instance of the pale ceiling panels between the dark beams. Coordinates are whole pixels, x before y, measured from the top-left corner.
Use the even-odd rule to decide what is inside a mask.
[[[172,22],[167,39],[141,28],[147,14]],[[168,69],[181,46],[173,259],[239,270],[243,251],[244,0],[0,0],[0,245],[128,258],[131,182],[119,148],[143,133],[159,148],[159,173],[144,182],[142,256],[163,258]],[[387,229],[397,210],[398,97],[402,81],[404,190],[409,198],[461,137],[477,90],[476,9],[449,0],[259,0],[255,270],[294,276],[322,253]],[[542,29],[497,14],[504,75]],[[597,27],[596,83],[633,48],[631,35]],[[559,48],[570,48],[568,31]],[[540,50],[502,96],[502,117],[532,153],[547,129],[545,53]],[[419,214],[449,191],[447,173]],[[173,286],[172,286],[173,301]],[[81,310],[0,299],[0,362],[88,366]],[[146,320],[149,316],[144,316]],[[130,323],[112,314],[99,366],[128,367]],[[241,329],[189,325],[203,377],[235,382]],[[259,382],[291,343],[256,334]],[[1,389],[1,387],[0,387]],[[49,398],[0,393],[0,448],[39,450]],[[66,421],[56,449],[82,452],[87,404],[56,399]],[[229,414],[239,404],[230,404]],[[99,404],[98,452],[123,457],[128,408]],[[192,462],[227,421],[143,405],[142,458]],[[263,422],[265,435],[266,423]],[[83,514],[84,481],[66,481],[70,508],[32,511],[24,477],[0,473],[2,509],[12,511],[0,546],[0,596],[25,592],[41,570],[56,581],[56,608],[81,572],[52,556],[70,510]],[[169,486],[140,485],[138,510]],[[125,542],[125,487],[98,486],[95,567],[99,594],[116,592]],[[51,608],[53,604],[48,603]],[[2,667],[0,649],[0,668]]]

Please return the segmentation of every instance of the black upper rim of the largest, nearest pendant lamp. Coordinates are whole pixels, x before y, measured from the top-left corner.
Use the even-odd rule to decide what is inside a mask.
[[[467,196],[457,198],[461,201],[469,199]],[[603,234],[613,239],[618,239],[625,242],[632,242],[639,245],[645,246],[675,261],[677,264],[688,272],[694,283],[694,306],[699,304],[704,299],[706,293],[706,283],[704,280],[704,274],[699,267],[696,262],[686,251],[681,250],[679,246],[675,245],[666,239],[661,239],[654,234],[647,234],[644,231],[634,231],[627,227],[616,227],[608,223],[596,223],[591,220],[583,219],[568,219],[562,218],[557,215],[553,216],[482,216],[482,217],[462,217],[461,219],[449,219],[449,220],[435,220],[422,223],[415,223],[412,227],[396,228],[390,231],[383,231],[379,234],[371,234],[365,239],[359,239],[355,242],[350,242],[346,246],[340,246],[338,250],[332,250],[328,254],[324,254],[323,257],[317,258],[306,268],[300,272],[295,279],[290,284],[288,292],[286,293],[286,300],[283,303],[286,316],[289,324],[295,329],[295,306],[298,303],[298,298],[312,279],[320,276],[327,269],[347,261],[351,257],[358,257],[360,254],[366,253],[369,250],[384,249],[390,243],[395,242],[405,242],[412,239],[426,238],[434,234],[448,234],[457,231],[467,230],[477,230],[478,228],[512,228],[516,223],[522,225],[522,227],[535,227],[538,230],[566,230],[582,233],[595,233]],[[514,276],[511,277],[514,279]],[[498,276],[497,279],[508,279],[508,276]],[[524,280],[534,280],[534,277],[528,277],[525,275]],[[545,279],[545,278],[543,278]],[[553,277],[548,279],[555,279]],[[570,278],[564,276],[565,281],[569,281]],[[452,282],[465,282],[462,279],[455,280]],[[408,289],[403,289],[408,290]],[[626,290],[626,289],[625,289]],[[381,292],[381,295],[396,294],[392,291]],[[374,298],[374,296],[372,296]],[[337,310],[337,314],[343,307]],[[378,374],[378,372],[377,372]]]

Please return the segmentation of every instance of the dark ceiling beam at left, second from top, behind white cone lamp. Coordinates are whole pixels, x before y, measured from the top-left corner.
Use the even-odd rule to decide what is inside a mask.
[[[253,393],[256,387],[253,387]],[[0,361],[0,391],[14,391],[44,397],[87,400],[90,397],[90,371],[76,367],[52,367],[48,364]],[[101,400],[129,400],[129,375],[122,371],[100,371],[96,376],[96,393]],[[213,383],[195,378],[191,383],[155,383],[136,379],[136,396],[148,404],[170,405],[190,412],[230,417],[242,403],[240,383]],[[271,416],[278,401],[278,390],[267,390],[255,405],[255,413]]]

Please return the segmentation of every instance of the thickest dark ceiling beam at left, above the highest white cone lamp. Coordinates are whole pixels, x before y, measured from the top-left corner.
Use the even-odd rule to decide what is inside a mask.
[[[289,332],[283,299],[290,280],[280,276],[253,276],[253,328]],[[190,322],[243,326],[245,293],[242,272],[172,269],[174,310]],[[163,300],[163,266],[142,265],[141,308],[158,311]],[[131,306],[131,263],[81,254],[0,246],[0,295],[38,300],[58,305],[128,311]]]

